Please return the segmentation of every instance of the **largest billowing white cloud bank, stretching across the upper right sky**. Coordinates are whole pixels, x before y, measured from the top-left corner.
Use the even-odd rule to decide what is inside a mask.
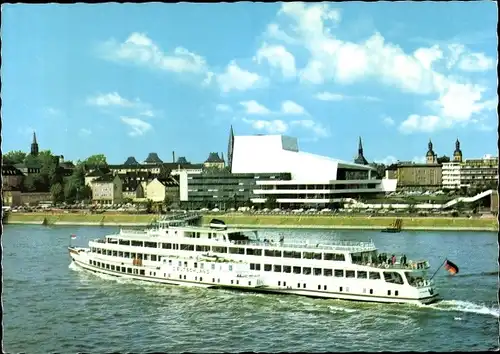
[[[427,130],[464,124],[481,109],[486,109],[485,105],[488,106],[481,95],[484,88],[441,73],[434,67],[435,63],[443,61],[448,69],[458,64],[462,70],[486,70],[491,67],[492,59],[482,53],[470,53],[461,44],[442,48],[434,45],[406,53],[400,46],[386,42],[380,33],[357,43],[340,40],[332,31],[332,27],[340,22],[340,14],[325,3],[311,6],[286,3],[279,14],[286,17],[283,23],[290,23],[294,37],[309,54],[307,65],[299,72],[302,82],[350,84],[375,79],[407,93],[435,95],[438,99],[434,106],[436,108],[439,104],[439,109],[431,114],[415,115],[421,117],[418,120],[425,123],[423,129]],[[283,27],[283,30],[287,28]],[[323,100],[345,98],[336,94],[320,97]],[[453,107],[451,102],[460,103]],[[405,123],[403,128],[410,127],[411,122],[413,120]]]

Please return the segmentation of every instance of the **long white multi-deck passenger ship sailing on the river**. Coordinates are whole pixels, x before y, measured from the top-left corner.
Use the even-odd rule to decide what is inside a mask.
[[[380,262],[373,242],[261,240],[256,230],[159,220],[69,247],[83,269],[170,285],[295,294],[384,303],[438,300],[427,261]]]

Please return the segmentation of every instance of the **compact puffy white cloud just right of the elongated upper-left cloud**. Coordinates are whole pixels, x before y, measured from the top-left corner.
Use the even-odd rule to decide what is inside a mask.
[[[246,91],[266,83],[260,75],[241,69],[234,61],[229,63],[225,73],[217,75],[217,82],[222,92]]]

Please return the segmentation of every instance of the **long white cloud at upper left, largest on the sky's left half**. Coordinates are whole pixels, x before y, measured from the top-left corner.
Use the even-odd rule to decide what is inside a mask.
[[[132,33],[123,43],[111,39],[100,47],[105,59],[131,62],[160,70],[177,73],[205,73],[205,59],[189,50],[177,47],[165,53],[144,33]]]

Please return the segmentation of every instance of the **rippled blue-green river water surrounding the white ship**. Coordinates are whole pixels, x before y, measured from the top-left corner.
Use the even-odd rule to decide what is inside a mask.
[[[472,351],[498,347],[496,233],[261,230],[278,239],[369,240],[384,251],[445,257],[442,302],[369,304],[154,285],[97,276],[70,264],[66,247],[111,227],[6,225],[4,352]]]

